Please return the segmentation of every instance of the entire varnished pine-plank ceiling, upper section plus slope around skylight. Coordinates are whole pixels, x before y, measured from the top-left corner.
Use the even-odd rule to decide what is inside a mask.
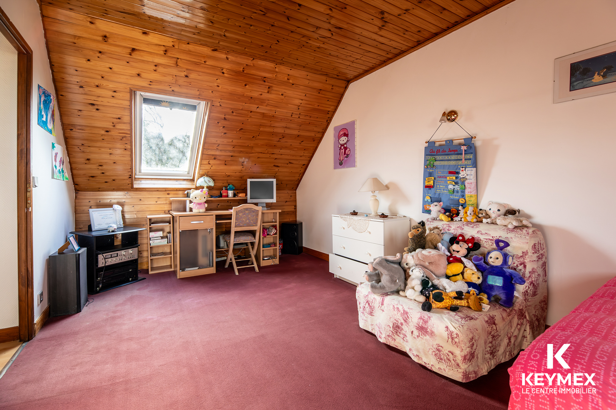
[[[213,100],[201,174],[294,190],[349,81],[511,1],[43,1],[75,188],[132,189],[132,87]]]

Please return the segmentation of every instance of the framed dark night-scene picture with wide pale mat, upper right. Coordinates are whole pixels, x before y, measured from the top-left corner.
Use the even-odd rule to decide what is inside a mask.
[[[616,91],[616,41],[554,60],[554,103]]]

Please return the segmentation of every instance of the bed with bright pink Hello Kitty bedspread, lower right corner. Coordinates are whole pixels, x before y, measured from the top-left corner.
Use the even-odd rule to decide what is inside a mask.
[[[554,357],[548,368],[548,345],[554,356],[567,344],[569,369]],[[616,278],[532,342],[509,375],[509,410],[616,409]]]

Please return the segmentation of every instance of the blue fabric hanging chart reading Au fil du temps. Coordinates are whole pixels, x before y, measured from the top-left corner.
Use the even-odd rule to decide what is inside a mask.
[[[443,203],[445,212],[463,206],[477,206],[477,154],[472,138],[463,145],[453,140],[424,148],[424,188],[421,212],[430,213],[432,203]]]

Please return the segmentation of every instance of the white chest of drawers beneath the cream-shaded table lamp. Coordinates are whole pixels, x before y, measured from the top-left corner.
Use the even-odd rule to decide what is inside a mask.
[[[409,218],[371,219],[368,229],[359,233],[347,226],[339,215],[331,215],[332,253],[330,272],[335,278],[358,284],[368,262],[378,256],[404,252],[408,246]]]

